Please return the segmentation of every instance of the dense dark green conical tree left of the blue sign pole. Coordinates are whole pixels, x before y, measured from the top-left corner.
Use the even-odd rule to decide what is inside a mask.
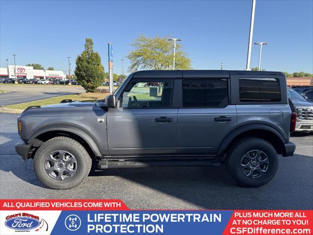
[[[87,92],[94,90],[104,81],[104,68],[98,52],[93,51],[91,38],[86,38],[85,50],[76,58],[75,76]]]

